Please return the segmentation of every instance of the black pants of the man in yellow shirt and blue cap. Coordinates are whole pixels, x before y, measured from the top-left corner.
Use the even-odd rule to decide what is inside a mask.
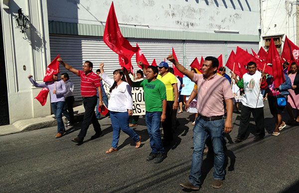
[[[172,105],[174,101],[167,101],[166,105],[166,119],[162,122],[164,139],[167,141],[172,141],[172,131],[176,129],[176,112],[177,109],[173,110]]]

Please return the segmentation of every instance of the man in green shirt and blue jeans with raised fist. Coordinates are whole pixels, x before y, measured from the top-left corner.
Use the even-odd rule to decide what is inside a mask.
[[[128,83],[132,87],[143,87],[146,103],[146,123],[149,132],[149,144],[151,153],[147,160],[160,163],[166,158],[166,152],[162,144],[160,134],[160,122],[166,118],[166,88],[165,85],[157,80],[158,68],[149,66],[147,69],[147,79],[140,82],[132,82],[124,68],[124,73]]]

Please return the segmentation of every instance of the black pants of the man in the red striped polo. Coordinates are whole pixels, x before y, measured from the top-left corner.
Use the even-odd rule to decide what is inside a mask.
[[[96,96],[83,98],[83,105],[85,108],[85,113],[84,113],[84,119],[82,122],[82,127],[81,127],[80,133],[78,135],[78,138],[80,140],[83,140],[84,137],[86,136],[87,129],[91,123],[94,127],[96,134],[101,133],[101,126],[100,126],[100,123],[99,123],[99,121],[96,117],[96,113],[95,113],[95,107],[97,105],[97,100],[98,99]]]

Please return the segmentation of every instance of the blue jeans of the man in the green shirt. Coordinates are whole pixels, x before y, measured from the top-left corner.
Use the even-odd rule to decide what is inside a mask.
[[[165,150],[161,140],[160,120],[162,112],[146,112],[146,123],[149,133],[149,144],[151,153],[165,154]]]

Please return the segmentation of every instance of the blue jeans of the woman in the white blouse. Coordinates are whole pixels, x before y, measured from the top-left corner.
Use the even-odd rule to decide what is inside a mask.
[[[127,133],[135,142],[139,141],[138,134],[129,127],[129,114],[128,112],[115,112],[110,111],[110,119],[113,128],[113,139],[111,147],[117,148],[120,139],[121,129]]]

